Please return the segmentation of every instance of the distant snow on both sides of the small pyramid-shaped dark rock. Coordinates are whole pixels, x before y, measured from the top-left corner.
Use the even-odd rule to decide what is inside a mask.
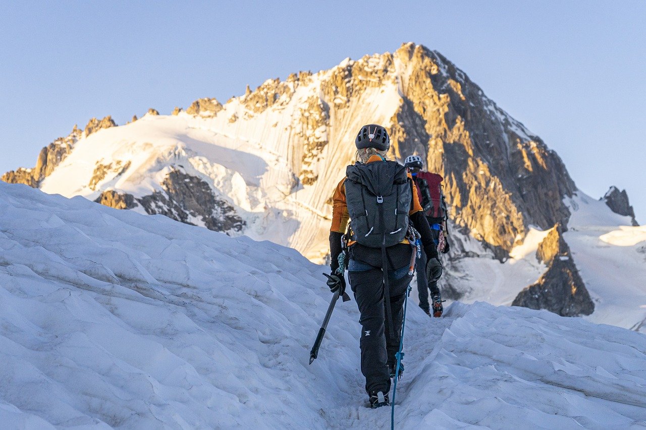
[[[583,318],[646,333],[646,226],[632,227],[629,217],[615,214],[603,201],[581,191],[567,199],[567,205],[572,216],[564,237],[595,305],[594,312]],[[545,272],[536,250],[546,234],[531,229],[504,264],[486,258],[479,243],[471,241],[463,247],[479,256],[457,254],[444,278],[461,287],[465,303],[510,305],[521,289]],[[413,286],[417,302],[417,284]]]

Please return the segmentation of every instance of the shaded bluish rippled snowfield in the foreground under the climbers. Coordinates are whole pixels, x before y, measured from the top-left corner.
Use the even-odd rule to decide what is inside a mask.
[[[307,364],[325,270],[0,182],[2,427],[388,428],[390,408],[366,407],[353,301]],[[409,304],[397,428],[646,425],[645,334],[482,302],[431,320]]]

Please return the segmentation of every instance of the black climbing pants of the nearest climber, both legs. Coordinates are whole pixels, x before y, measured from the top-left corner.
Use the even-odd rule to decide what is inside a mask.
[[[392,338],[388,336],[386,306],[384,303],[384,275],[380,267],[373,267],[360,261],[349,263],[349,280],[355,294],[361,317],[361,373],[366,377],[366,391],[388,393],[390,391],[390,370],[399,350],[404,299],[406,289],[413,276],[408,267],[388,271],[390,309],[392,312]]]

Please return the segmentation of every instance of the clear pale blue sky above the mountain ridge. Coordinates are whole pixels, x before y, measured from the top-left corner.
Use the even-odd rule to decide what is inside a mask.
[[[413,41],[439,50],[598,198],[646,223],[646,2],[3,2],[0,172],[92,116],[119,124]]]

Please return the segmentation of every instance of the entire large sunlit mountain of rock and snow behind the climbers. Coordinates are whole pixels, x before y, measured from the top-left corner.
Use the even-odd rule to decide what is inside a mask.
[[[443,282],[453,298],[482,283],[464,275],[482,264],[479,257],[516,261],[514,250],[548,231],[550,243],[560,243],[568,201],[582,194],[556,152],[439,52],[413,43],[268,79],[224,105],[205,97],[170,116],[149,113],[121,127],[110,121],[94,119],[91,134],[75,128],[43,148],[47,169],[18,169],[3,180],[271,240],[324,261],[331,195],[353,161],[355,133],[380,123],[392,158],[418,154],[445,178],[453,246]],[[509,288],[517,294],[537,280],[532,287],[568,296],[574,311],[565,314],[591,312],[584,281],[570,276],[578,272],[574,256],[563,246],[552,254],[559,258],[542,263],[524,254],[526,270]],[[536,303],[565,312],[562,303]]]

